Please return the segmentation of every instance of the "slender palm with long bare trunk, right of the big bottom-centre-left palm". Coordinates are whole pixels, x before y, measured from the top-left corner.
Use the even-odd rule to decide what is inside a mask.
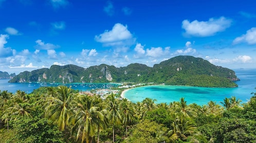
[[[107,110],[107,118],[111,122],[113,126],[113,142],[115,142],[115,124],[120,124],[122,117],[120,114],[120,106],[118,100],[115,99],[115,95],[111,94],[107,97],[106,102],[108,103]]]

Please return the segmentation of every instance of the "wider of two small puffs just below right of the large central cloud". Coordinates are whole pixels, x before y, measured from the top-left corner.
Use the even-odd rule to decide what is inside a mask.
[[[150,57],[162,57],[164,55],[168,55],[170,53],[170,47],[165,47],[164,50],[162,49],[162,47],[151,47],[151,49],[147,49],[146,50],[146,56],[150,56]]]

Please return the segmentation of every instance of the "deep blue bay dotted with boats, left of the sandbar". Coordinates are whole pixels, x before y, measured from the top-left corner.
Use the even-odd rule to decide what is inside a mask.
[[[92,89],[102,88],[108,89],[110,87],[117,87],[118,83],[72,83],[72,84],[61,84],[61,83],[8,83],[9,80],[0,80],[0,90],[4,91],[7,90],[8,92],[15,93],[17,90],[25,91],[26,93],[31,93],[34,89],[44,86],[71,86],[72,89],[79,90],[79,91],[89,91]]]

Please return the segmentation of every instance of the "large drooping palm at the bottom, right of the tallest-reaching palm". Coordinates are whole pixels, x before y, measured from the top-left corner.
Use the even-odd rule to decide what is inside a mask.
[[[88,142],[91,139],[92,141],[92,137],[97,132],[99,142],[99,132],[107,125],[104,116],[106,110],[100,110],[100,107],[95,106],[97,102],[94,97],[77,94],[75,101],[75,114],[70,117],[70,121],[74,125],[72,130],[78,130],[77,140],[83,142],[86,139]]]

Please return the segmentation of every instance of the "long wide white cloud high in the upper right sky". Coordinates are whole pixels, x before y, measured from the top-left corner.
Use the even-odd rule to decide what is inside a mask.
[[[225,31],[231,26],[231,19],[220,17],[218,19],[210,18],[208,21],[190,22],[189,20],[182,21],[182,29],[185,29],[185,35],[191,35],[196,37],[213,36],[217,32]]]

